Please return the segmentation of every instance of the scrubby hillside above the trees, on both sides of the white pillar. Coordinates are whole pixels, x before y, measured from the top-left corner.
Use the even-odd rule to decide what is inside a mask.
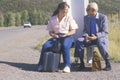
[[[20,12],[33,9],[51,13],[61,0],[0,0],[0,12]],[[89,0],[98,3],[100,12],[111,14],[120,11],[120,0]]]

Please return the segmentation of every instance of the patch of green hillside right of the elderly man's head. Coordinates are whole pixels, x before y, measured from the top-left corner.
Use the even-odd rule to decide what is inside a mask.
[[[89,0],[97,2],[99,11],[104,14],[120,14],[120,0]]]

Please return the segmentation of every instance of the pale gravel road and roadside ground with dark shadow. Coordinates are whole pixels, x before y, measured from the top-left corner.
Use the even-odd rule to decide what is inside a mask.
[[[0,80],[120,80],[120,63],[111,71],[38,72],[40,52],[33,47],[48,34],[45,27],[0,29]]]

